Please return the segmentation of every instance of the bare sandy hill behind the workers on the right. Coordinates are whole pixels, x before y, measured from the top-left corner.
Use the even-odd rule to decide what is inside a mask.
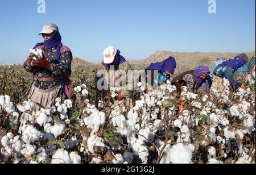
[[[177,61],[177,69],[175,73],[180,73],[186,70],[195,69],[200,65],[209,66],[210,61],[216,60],[218,57],[232,59],[239,54],[240,53],[156,51],[147,59],[129,62],[135,69],[145,69],[152,62],[160,62],[167,59],[169,56],[173,56]],[[251,59],[251,57],[255,56],[255,52],[246,52],[246,55]]]

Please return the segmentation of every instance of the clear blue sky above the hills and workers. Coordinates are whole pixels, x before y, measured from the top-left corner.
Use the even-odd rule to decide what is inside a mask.
[[[101,62],[114,45],[127,60],[155,51],[255,51],[255,0],[38,0],[0,1],[0,64],[22,63],[47,22],[60,28],[74,57]]]

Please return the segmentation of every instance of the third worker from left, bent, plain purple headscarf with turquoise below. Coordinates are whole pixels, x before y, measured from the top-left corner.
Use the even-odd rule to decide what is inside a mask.
[[[161,85],[163,82],[170,80],[171,75],[173,75],[175,72],[176,65],[177,64],[176,64],[175,58],[170,56],[168,57],[168,59],[162,62],[156,62],[156,63],[150,64],[150,66],[147,67],[146,72],[148,72],[147,70],[158,70],[157,81],[158,81],[158,85]]]

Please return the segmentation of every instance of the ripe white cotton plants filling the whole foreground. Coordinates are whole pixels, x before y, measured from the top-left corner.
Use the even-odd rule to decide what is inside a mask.
[[[74,86],[72,100],[39,111],[3,94],[0,163],[252,164],[255,73],[249,81],[236,92],[226,83],[226,97],[200,97],[185,86],[178,95],[169,81],[146,93],[139,83],[133,108],[96,102],[86,83]]]

